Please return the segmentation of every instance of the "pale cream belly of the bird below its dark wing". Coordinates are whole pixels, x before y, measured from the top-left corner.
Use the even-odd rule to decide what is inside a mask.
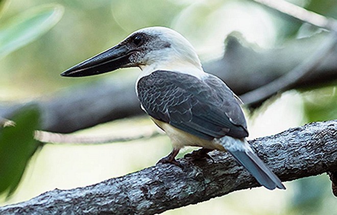
[[[196,147],[203,147],[206,149],[217,149],[220,151],[224,151],[224,147],[220,144],[217,144],[215,140],[206,140],[195,135],[189,134],[185,131],[177,129],[170,124],[161,122],[152,118],[153,122],[160,127],[162,130],[165,131],[168,137],[170,137],[172,145],[175,149],[181,149],[185,146],[196,146]]]

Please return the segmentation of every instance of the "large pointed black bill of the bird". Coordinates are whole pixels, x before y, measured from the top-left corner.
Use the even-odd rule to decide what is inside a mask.
[[[130,63],[131,54],[132,51],[128,50],[125,45],[118,44],[65,70],[61,76],[83,77],[107,73]]]

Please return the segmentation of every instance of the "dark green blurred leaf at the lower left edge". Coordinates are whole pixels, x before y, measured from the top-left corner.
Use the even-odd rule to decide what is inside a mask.
[[[36,105],[18,110],[11,119],[14,127],[0,128],[0,194],[10,196],[16,189],[22,174],[34,152],[40,145],[34,139],[39,129],[40,113]]]

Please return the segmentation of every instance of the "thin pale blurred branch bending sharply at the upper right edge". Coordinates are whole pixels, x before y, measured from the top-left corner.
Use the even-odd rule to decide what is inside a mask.
[[[324,28],[333,32],[327,37],[326,42],[318,51],[309,58],[305,59],[289,73],[260,88],[249,91],[240,97],[246,104],[259,105],[261,102],[267,100],[277,92],[285,91],[291,88],[292,85],[296,84],[304,76],[307,76],[323,62],[323,60],[333,51],[333,48],[337,43],[337,21],[332,18],[326,18],[325,16],[315,12],[307,11],[304,8],[282,0],[277,2],[271,0],[253,1],[293,16],[303,22],[307,22],[316,27]]]

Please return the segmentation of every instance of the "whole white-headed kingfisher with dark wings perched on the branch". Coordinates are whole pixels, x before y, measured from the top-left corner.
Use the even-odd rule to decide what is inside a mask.
[[[166,27],[139,29],[110,49],[65,70],[61,76],[85,77],[139,67],[140,107],[171,139],[173,150],[160,162],[175,163],[185,146],[227,151],[259,184],[285,189],[248,144],[246,118],[237,95],[220,78],[206,73],[188,40]]]

